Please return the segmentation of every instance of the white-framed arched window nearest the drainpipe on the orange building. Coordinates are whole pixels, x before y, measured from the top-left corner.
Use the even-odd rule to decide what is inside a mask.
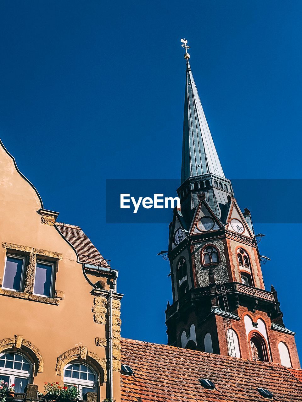
[[[71,363],[64,367],[64,384],[74,385],[80,392],[80,398],[87,392],[95,392],[97,375],[93,369],[82,363]]]

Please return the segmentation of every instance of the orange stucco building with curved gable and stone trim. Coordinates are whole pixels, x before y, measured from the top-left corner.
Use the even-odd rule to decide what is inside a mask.
[[[12,352],[12,363],[5,361],[6,368],[13,366],[10,380],[19,391],[27,382],[43,391],[46,381],[68,383],[64,367],[77,362],[84,370],[80,366],[79,377],[87,381],[79,385],[81,392],[106,398],[111,327],[112,377],[119,401],[122,295],[116,293],[117,273],[79,227],[56,224],[58,213],[43,209],[37,190],[2,143],[0,183],[0,306],[5,312],[0,352]],[[25,357],[27,370],[22,370],[19,356]],[[19,373],[15,367],[21,368]],[[76,368],[70,366],[75,384]]]

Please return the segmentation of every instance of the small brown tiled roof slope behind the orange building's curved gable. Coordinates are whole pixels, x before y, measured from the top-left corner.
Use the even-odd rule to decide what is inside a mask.
[[[79,226],[56,222],[56,227],[76,250],[79,262],[108,267],[107,261]]]

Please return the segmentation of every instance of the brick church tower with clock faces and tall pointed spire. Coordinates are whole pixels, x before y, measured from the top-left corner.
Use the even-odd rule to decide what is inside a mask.
[[[180,209],[170,223],[173,304],[169,345],[300,367],[295,333],[285,328],[277,292],[265,289],[250,211],[225,178],[189,64]]]

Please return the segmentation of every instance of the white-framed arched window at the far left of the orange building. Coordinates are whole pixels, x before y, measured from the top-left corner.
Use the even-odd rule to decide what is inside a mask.
[[[0,381],[14,385],[15,392],[24,392],[27,384],[31,382],[32,365],[19,353],[0,353]]]

